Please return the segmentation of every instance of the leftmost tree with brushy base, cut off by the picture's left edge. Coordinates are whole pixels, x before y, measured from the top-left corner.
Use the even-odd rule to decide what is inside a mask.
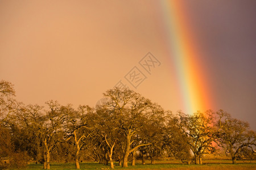
[[[0,82],[0,168],[21,168],[26,167],[28,155],[26,143],[23,137],[26,130],[19,124],[19,116],[23,113],[24,106],[15,100],[13,84],[2,80]],[[15,124],[16,123],[16,124]],[[27,135],[26,135],[27,137]],[[3,165],[3,166],[2,166]]]

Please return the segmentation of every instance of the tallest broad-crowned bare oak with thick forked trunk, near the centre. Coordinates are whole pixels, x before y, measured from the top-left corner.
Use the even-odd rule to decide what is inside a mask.
[[[143,139],[143,128],[157,124],[156,120],[162,118],[163,109],[159,105],[152,104],[137,92],[129,89],[120,90],[114,88],[105,94],[109,101],[106,107],[113,118],[118,122],[120,131],[124,134],[123,143],[123,164],[127,167],[128,156],[141,146],[151,145],[149,140]],[[139,137],[139,141],[136,141]]]

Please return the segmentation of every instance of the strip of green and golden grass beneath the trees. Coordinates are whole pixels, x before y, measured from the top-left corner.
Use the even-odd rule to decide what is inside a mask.
[[[75,163],[51,163],[51,169],[75,169]],[[27,169],[36,170],[43,169],[42,164],[30,164]],[[109,165],[98,164],[98,163],[80,163],[80,169],[110,169]],[[152,165],[150,162],[146,162],[146,165],[142,165],[141,162],[138,162],[135,167],[129,166],[128,168],[122,168],[115,165],[115,169],[207,169],[207,170],[218,170],[218,169],[256,169],[256,162],[250,161],[238,161],[237,164],[232,164],[231,160],[204,160],[203,165],[187,165],[182,164],[179,161],[166,160],[166,161],[157,161],[156,164]]]

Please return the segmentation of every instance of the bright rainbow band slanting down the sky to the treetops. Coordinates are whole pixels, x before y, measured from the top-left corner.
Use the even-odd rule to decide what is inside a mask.
[[[195,38],[180,0],[160,1],[164,24],[164,37],[171,64],[175,67],[176,79],[182,95],[183,112],[204,112],[212,107],[207,75],[202,70]],[[194,33],[195,34],[195,33]]]

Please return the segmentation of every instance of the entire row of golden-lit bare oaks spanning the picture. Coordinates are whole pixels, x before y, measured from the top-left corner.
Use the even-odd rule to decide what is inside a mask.
[[[165,111],[128,88],[106,91],[96,108],[49,100],[47,107],[15,100],[14,86],[0,82],[0,168],[26,167],[33,160],[44,169],[50,162],[114,162],[166,156],[190,164],[220,148],[237,159],[255,159],[255,131],[225,111],[185,114]]]

